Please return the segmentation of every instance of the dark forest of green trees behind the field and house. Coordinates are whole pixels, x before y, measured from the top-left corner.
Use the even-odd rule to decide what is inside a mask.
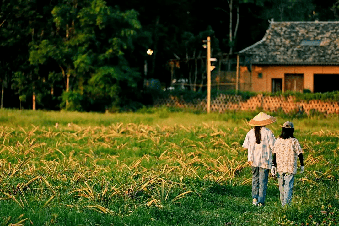
[[[339,1],[1,0],[1,108],[104,112],[152,105],[159,93],[144,83],[158,79],[167,90],[168,60],[203,59],[207,36],[212,57],[236,53],[262,39],[273,18],[338,20]],[[189,71],[177,79],[191,79]],[[196,84],[205,83],[205,71],[201,65]]]

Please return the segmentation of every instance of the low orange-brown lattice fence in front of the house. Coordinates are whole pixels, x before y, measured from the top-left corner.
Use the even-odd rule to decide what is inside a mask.
[[[171,96],[167,99],[156,99],[155,106],[183,107],[199,110],[206,110],[207,98],[195,99],[192,102],[185,102],[183,99]],[[339,114],[338,102],[324,102],[321,100],[298,101],[294,96],[289,97],[270,97],[259,94],[247,100],[243,100],[239,95],[219,94],[211,100],[211,111],[223,113],[226,110],[256,110],[258,108],[264,111],[282,110],[285,113],[291,111],[303,111],[306,114],[310,112],[322,112],[324,114]]]

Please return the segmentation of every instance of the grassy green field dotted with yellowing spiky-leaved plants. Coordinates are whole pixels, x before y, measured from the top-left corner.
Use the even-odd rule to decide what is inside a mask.
[[[267,126],[295,123],[305,172],[284,209],[270,177],[259,209],[241,147],[257,113],[0,110],[0,224],[339,224],[338,117]]]

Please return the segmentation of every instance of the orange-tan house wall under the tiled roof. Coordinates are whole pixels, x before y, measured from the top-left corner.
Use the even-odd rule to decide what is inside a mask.
[[[240,73],[246,73],[240,71]],[[262,73],[262,78],[258,78],[259,73]],[[272,79],[282,79],[282,91],[285,91],[285,74],[303,74],[304,89],[314,91],[314,74],[339,74],[339,66],[252,66],[252,91],[254,92],[271,92]],[[331,81],[329,81],[331,82]]]

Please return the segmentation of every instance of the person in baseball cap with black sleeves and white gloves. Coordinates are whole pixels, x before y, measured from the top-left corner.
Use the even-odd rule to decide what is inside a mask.
[[[300,173],[305,170],[304,158],[299,141],[294,137],[294,124],[285,122],[281,128],[281,135],[273,146],[272,176],[277,175],[280,202],[282,206],[292,201],[294,176],[297,173],[297,159],[300,161]]]

